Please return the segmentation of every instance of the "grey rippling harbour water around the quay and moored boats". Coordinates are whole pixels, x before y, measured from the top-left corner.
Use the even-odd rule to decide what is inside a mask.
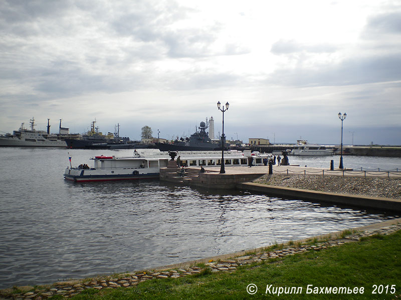
[[[90,156],[132,150],[0,148],[0,288],[133,271],[396,217],[158,180],[72,183],[63,179],[68,152],[73,165],[93,165]],[[401,165],[399,158],[352,159]]]

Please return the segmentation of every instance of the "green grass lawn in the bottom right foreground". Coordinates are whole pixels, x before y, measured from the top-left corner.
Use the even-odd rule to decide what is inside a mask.
[[[249,295],[247,285],[258,291]],[[265,294],[266,285],[302,287],[302,293]],[[314,287],[364,287],[363,294],[306,294],[308,284]],[[74,296],[83,299],[395,299],[394,294],[373,295],[373,285],[395,284],[401,294],[401,231],[391,235],[373,235],[358,242],[307,251],[284,259],[240,266],[234,272],[210,270],[177,279],[152,279],[136,287],[85,290]]]

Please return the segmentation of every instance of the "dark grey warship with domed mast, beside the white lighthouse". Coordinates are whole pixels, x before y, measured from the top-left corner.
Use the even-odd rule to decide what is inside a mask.
[[[176,139],[173,143],[157,142],[156,147],[160,151],[210,151],[221,150],[221,143],[212,141],[206,129],[208,125],[202,121],[199,124],[199,131],[191,134],[188,138]]]

